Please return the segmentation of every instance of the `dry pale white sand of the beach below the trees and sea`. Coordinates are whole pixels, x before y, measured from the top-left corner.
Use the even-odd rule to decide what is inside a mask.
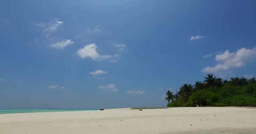
[[[121,108],[0,114],[0,134],[175,134],[221,128],[256,130],[256,108]]]

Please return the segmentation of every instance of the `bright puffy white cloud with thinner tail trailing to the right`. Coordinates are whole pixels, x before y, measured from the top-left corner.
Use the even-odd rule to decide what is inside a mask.
[[[119,57],[118,54],[115,54],[114,56],[111,55],[101,55],[97,52],[97,46],[96,44],[88,44],[84,48],[81,48],[77,50],[77,54],[81,58],[91,58],[92,60],[104,60],[104,59],[111,59],[116,60]]]

